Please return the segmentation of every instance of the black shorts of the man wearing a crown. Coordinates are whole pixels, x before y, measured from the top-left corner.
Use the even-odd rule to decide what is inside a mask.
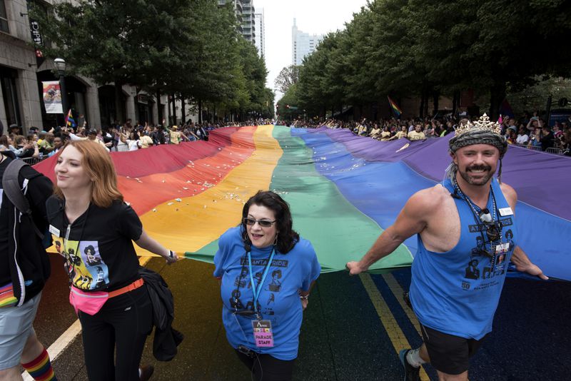
[[[430,365],[448,375],[460,375],[468,370],[469,359],[482,346],[485,337],[480,340],[448,335],[420,325],[423,339],[430,357]]]

